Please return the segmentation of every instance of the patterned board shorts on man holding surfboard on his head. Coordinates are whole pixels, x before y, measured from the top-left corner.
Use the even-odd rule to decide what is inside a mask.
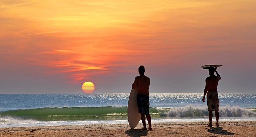
[[[207,92],[206,98],[207,98],[208,111],[220,110],[220,101],[218,99],[217,92]]]

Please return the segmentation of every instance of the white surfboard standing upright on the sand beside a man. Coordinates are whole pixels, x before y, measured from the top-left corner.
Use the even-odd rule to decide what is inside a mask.
[[[137,94],[138,94],[138,88],[132,89],[128,101],[128,122],[131,127],[131,129],[134,129],[136,125],[140,121],[140,113],[137,106]]]

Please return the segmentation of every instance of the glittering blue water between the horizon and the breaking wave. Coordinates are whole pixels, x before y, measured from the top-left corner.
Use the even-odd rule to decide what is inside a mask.
[[[151,93],[150,107],[205,106],[203,93]],[[122,107],[128,93],[108,94],[0,94],[0,111],[44,107]],[[256,108],[256,94],[219,93],[221,106]]]

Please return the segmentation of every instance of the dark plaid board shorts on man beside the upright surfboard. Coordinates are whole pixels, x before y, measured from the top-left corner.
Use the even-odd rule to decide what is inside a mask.
[[[139,113],[149,115],[149,96],[137,94],[137,105],[139,108]]]

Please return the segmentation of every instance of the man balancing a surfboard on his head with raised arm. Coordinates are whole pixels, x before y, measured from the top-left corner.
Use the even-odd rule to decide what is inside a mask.
[[[217,76],[214,75],[216,72]],[[209,111],[209,125],[212,126],[212,119],[213,119],[213,111],[215,111],[215,118],[216,118],[216,125],[219,126],[219,108],[220,108],[220,101],[218,99],[218,81],[221,80],[220,74],[217,72],[217,67],[210,67],[209,68],[210,76],[206,78],[206,87],[204,88],[204,94],[202,101],[205,101],[205,96],[207,97],[207,108]]]

